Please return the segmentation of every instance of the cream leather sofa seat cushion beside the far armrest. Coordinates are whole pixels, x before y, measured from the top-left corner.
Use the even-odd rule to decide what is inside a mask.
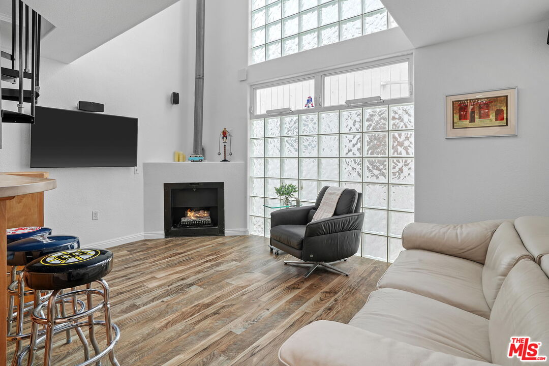
[[[382,278],[378,288],[399,289],[423,295],[490,317],[482,289],[483,265],[463,258],[428,250],[400,252]]]

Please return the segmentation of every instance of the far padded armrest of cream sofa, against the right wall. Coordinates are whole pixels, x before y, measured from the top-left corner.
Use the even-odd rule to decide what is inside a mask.
[[[492,235],[504,221],[466,224],[414,222],[404,228],[402,246],[405,249],[424,249],[484,264]]]

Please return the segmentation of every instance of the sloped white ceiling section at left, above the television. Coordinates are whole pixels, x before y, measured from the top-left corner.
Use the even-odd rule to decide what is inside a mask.
[[[25,3],[54,26],[42,40],[42,56],[70,63],[177,1],[25,0]]]

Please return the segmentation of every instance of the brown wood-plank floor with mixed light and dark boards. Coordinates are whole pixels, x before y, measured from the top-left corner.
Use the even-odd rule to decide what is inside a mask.
[[[388,267],[352,257],[336,264],[349,277],[318,268],[305,279],[306,267],[284,266],[295,258],[273,255],[267,243],[256,236],[197,237],[111,248],[114,269],[105,280],[121,330],[120,364],[277,365],[278,348],[302,326],[349,322]],[[68,345],[64,334],[55,337],[55,365],[83,361],[72,337]],[[98,339],[101,346],[102,331]]]

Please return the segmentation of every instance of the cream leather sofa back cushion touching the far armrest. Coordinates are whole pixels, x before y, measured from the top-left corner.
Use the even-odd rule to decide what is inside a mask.
[[[511,268],[526,258],[534,260],[522,244],[513,224],[508,221],[502,223],[490,241],[482,271],[482,288],[490,308]]]

